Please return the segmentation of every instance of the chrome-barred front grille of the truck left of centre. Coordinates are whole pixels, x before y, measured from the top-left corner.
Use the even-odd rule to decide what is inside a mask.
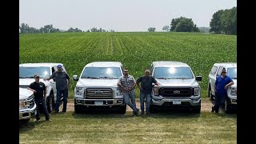
[[[86,99],[111,99],[113,90],[111,88],[87,88]]]

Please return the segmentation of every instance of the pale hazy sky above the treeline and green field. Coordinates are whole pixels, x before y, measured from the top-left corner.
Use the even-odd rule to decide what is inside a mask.
[[[182,16],[192,18],[198,27],[210,27],[215,12],[234,6],[236,0],[19,0],[19,25],[117,32],[155,27],[162,31],[173,18]]]

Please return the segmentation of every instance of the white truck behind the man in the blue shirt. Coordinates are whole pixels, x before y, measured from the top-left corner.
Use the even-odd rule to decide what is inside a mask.
[[[224,109],[228,113],[237,105],[237,63],[236,62],[222,62],[214,63],[208,75],[208,97],[210,100],[214,99],[214,83],[216,78],[222,73],[222,68],[226,69],[228,75],[234,81],[234,85],[229,86],[227,91],[227,98],[225,99]]]

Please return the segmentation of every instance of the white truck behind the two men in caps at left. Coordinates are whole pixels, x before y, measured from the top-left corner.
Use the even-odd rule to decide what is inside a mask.
[[[34,82],[34,74],[39,74],[40,82],[46,85],[46,106],[49,113],[54,110],[57,100],[56,83],[54,79],[44,81],[43,78],[50,77],[57,70],[58,65],[62,65],[62,70],[66,71],[62,63],[23,63],[19,65],[19,87],[30,86],[30,83]]]

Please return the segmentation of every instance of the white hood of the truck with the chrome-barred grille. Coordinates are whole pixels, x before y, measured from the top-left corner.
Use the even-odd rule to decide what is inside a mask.
[[[117,87],[118,79],[79,79],[77,86],[79,87]]]

